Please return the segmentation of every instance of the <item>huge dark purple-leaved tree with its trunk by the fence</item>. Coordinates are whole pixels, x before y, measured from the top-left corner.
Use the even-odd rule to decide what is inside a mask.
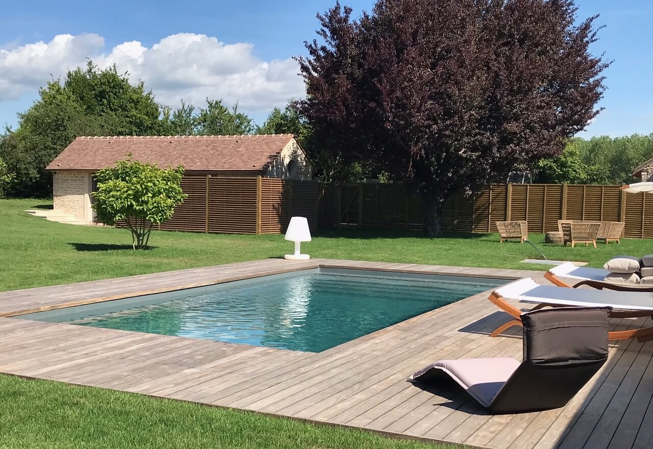
[[[319,15],[299,103],[333,164],[371,161],[421,194],[441,236],[453,191],[560,154],[599,110],[595,17],[571,0],[378,0]],[[575,23],[578,23],[575,25]]]

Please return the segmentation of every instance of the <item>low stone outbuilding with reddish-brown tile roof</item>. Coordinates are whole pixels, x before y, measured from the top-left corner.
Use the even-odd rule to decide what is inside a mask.
[[[310,163],[293,134],[78,137],[48,165],[54,209],[91,223],[93,174],[128,153],[160,168],[183,165],[185,176],[311,179]]]

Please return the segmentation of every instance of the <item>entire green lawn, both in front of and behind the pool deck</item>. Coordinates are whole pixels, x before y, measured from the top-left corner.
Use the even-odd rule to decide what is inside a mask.
[[[0,200],[0,290],[54,285],[281,256],[283,236],[153,232],[148,251],[133,251],[129,232],[72,226],[32,217],[42,200]],[[574,249],[532,241],[550,259],[601,266],[617,254],[650,253],[651,242]],[[304,251],[314,257],[458,266],[526,268],[537,253],[499,243],[496,234],[449,234],[430,240],[419,232],[319,232]],[[372,433],[321,427],[237,410],[200,407],[134,394],[0,375],[0,448],[433,448]]]

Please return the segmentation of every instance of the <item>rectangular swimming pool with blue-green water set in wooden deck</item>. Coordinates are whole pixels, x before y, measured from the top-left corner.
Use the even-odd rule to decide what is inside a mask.
[[[20,318],[321,352],[506,282],[317,268]]]

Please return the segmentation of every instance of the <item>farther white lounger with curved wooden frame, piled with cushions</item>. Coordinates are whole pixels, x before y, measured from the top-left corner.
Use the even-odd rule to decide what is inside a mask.
[[[626,283],[615,283],[605,281],[605,277],[610,274],[610,271],[603,270],[603,268],[586,268],[575,266],[571,262],[565,262],[551,268],[544,273],[544,277],[554,285],[559,287],[574,287],[577,288],[581,285],[598,288],[602,290],[607,288],[609,290],[618,290],[621,292],[653,292],[653,286],[650,285],[637,285]],[[579,283],[569,285],[562,281],[560,277],[569,277],[571,279],[579,279]]]

